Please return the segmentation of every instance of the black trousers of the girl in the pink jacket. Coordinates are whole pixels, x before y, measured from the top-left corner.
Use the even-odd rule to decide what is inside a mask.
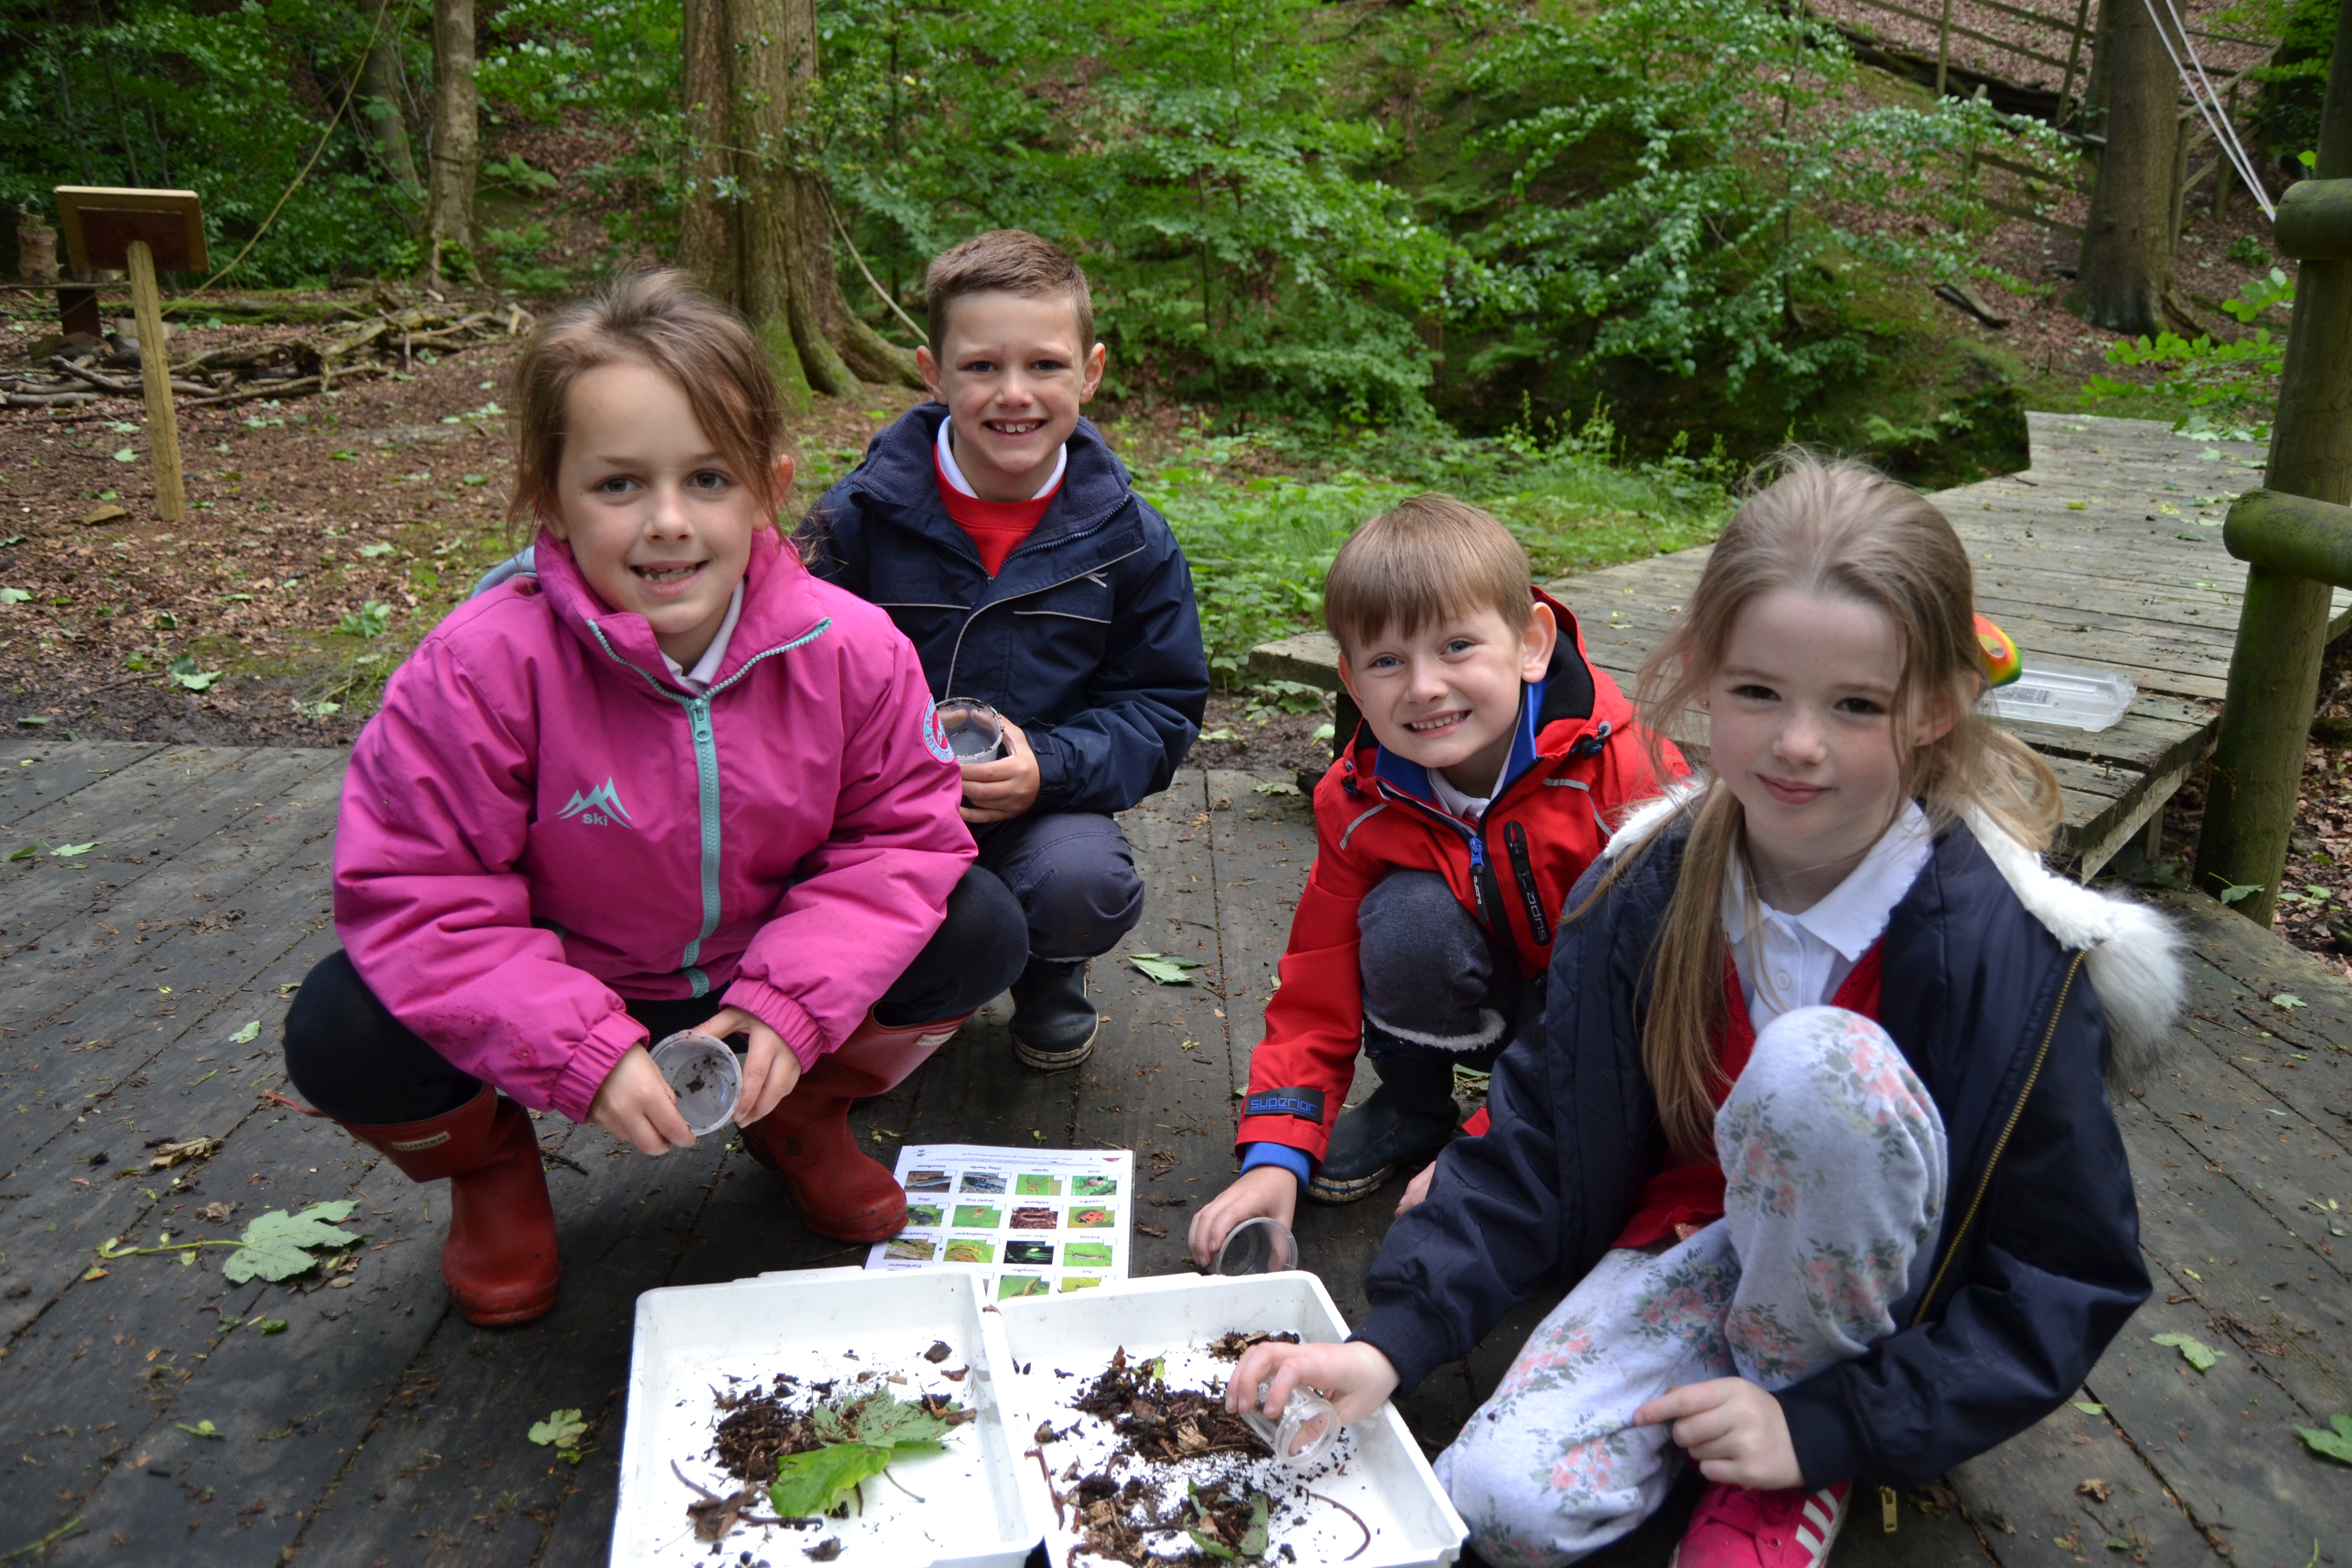
[[[948,919],[875,1004],[887,1025],[971,1013],[1021,976],[1028,957],[1021,905],[978,867],[948,896]],[[628,1001],[652,1039],[691,1030],[724,1006],[717,997]],[[287,1011],[287,1077],[303,1100],[336,1121],[393,1126],[428,1121],[466,1105],[482,1081],[449,1065],[430,1041],[393,1018],[350,959],[332,952],[294,992]]]

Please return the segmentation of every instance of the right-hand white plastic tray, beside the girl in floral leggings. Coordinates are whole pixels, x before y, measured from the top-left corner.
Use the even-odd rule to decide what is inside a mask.
[[[1080,1380],[1098,1373],[1122,1345],[1129,1356],[1152,1356],[1207,1347],[1235,1328],[1291,1331],[1310,1345],[1348,1338],[1348,1321],[1331,1302],[1331,1293],[1303,1272],[1244,1279],[1202,1274],[1129,1279],[1075,1295],[997,1302],[997,1309],[981,1321],[983,1333],[1004,1340],[995,1361],[1014,1432],[1035,1432],[1042,1420],[1068,1425],[1070,1410],[1061,1401]],[[1056,1378],[1056,1371],[1075,1375]],[[1315,1490],[1345,1502],[1371,1530],[1371,1544],[1350,1568],[1444,1568],[1458,1561],[1468,1528],[1430,1474],[1430,1462],[1421,1458],[1421,1443],[1406,1432],[1397,1406],[1383,1403],[1378,1415],[1348,1427],[1348,1441],[1352,1458],[1338,1474],[1315,1481]],[[1037,1474],[1035,1460],[1028,1465]],[[1051,1502],[1047,1516],[1051,1519]],[[1343,1535],[1348,1552],[1362,1540],[1352,1526]],[[1061,1530],[1054,1533],[1056,1544],[1049,1556],[1056,1563],[1065,1540]],[[1334,1552],[1331,1561],[1341,1556],[1345,1552]],[[1317,1561],[1298,1552],[1298,1568],[1312,1568]]]

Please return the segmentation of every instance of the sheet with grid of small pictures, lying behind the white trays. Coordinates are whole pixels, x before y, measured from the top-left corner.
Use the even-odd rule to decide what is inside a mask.
[[[1134,1150],[898,1150],[906,1229],[875,1241],[868,1269],[962,1267],[988,1300],[1127,1279]]]

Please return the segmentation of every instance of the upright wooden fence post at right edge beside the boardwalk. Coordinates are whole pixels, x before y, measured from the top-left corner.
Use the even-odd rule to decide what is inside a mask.
[[[2352,181],[2352,5],[2336,16],[2336,54],[2319,108],[2319,181]],[[2296,186],[2303,195],[2328,195]],[[2333,207],[2333,202],[2328,202]],[[2347,209],[2336,209],[2352,216]],[[2296,317],[2286,329],[2279,418],[2270,437],[2265,482],[2288,496],[2338,505],[2352,501],[2352,235],[2345,221],[2307,235],[2286,223],[2286,252],[2300,256]],[[2277,228],[2272,230],[2277,233]],[[2246,569],[2246,602],[2230,656],[2230,691],[2197,842],[2197,886],[2256,886],[2237,912],[2258,926],[2277,907],[2286,842],[2303,792],[2303,759],[2319,698],[2319,658],[2328,639],[2328,585],[2267,567]]]

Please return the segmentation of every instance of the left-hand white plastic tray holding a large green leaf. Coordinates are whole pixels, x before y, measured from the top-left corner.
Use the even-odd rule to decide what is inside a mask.
[[[774,1563],[797,1563],[800,1552],[826,1535],[842,1537],[842,1568],[1021,1568],[1054,1516],[1044,1479],[1021,1481],[1023,1465],[1037,1467],[1021,1458],[1028,1443],[1014,1443],[1007,1432],[1002,1368],[990,1361],[1000,1340],[983,1333],[981,1321],[981,1293],[962,1269],[800,1269],[640,1295],[621,1507],[612,1523],[614,1568],[710,1568],[746,1547]],[[962,1382],[929,1375],[934,1368],[920,1354],[934,1340],[953,1349],[941,1368],[971,1368]],[[717,1422],[710,1392],[729,1387],[729,1375],[746,1385],[774,1373],[830,1378],[842,1371],[844,1349],[875,1371],[924,1373],[917,1382],[938,1382],[957,1403],[978,1408],[978,1418],[957,1427],[946,1453],[903,1460],[891,1465],[889,1481],[868,1481],[863,1514],[828,1519],[823,1533],[739,1526],[713,1559],[710,1542],[694,1540],[687,1519],[694,1493],[670,1474],[675,1460],[701,1486],[731,1490],[708,1458]],[[767,1505],[755,1512],[764,1514]]]

